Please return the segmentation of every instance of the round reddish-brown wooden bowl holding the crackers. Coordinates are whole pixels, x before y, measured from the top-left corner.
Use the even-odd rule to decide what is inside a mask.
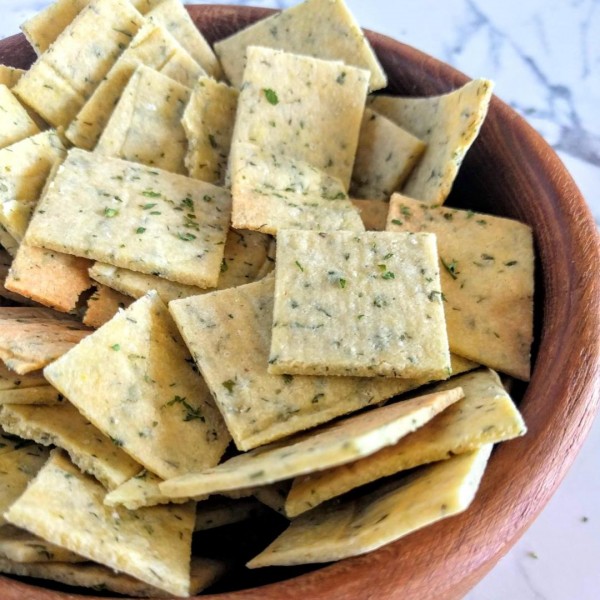
[[[190,6],[211,42],[268,14],[264,9]],[[467,78],[413,48],[368,33],[389,91],[431,95]],[[0,42],[0,62],[28,67],[22,35]],[[537,250],[535,368],[516,391],[529,428],[500,445],[471,508],[376,552],[278,583],[202,596],[227,600],[461,598],[516,542],[573,462],[599,402],[600,252],[591,214],[552,149],[494,98],[448,204],[528,223]],[[521,397],[522,396],[522,397]],[[5,600],[77,596],[0,579]],[[87,596],[89,598],[89,596]]]

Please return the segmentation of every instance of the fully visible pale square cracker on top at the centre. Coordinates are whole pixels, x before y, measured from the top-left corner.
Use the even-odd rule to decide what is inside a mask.
[[[435,236],[280,232],[270,373],[445,379]]]

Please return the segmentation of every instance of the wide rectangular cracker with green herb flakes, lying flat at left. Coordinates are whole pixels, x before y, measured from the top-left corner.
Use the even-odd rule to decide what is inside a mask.
[[[77,202],[65,202],[65,196]],[[229,193],[210,183],[74,148],[40,200],[26,239],[179,283],[215,287],[230,205]]]

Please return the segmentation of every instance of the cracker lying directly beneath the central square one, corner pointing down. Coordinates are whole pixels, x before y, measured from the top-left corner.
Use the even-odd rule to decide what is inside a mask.
[[[267,363],[273,293],[273,278],[267,277],[169,305],[240,450],[309,429],[425,383],[271,375]]]

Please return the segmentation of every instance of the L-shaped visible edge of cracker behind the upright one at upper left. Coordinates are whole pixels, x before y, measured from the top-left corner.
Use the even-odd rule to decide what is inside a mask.
[[[73,144],[85,150],[96,146],[124,88],[142,64],[190,88],[204,73],[166,29],[145,24],[69,125],[66,136]]]

